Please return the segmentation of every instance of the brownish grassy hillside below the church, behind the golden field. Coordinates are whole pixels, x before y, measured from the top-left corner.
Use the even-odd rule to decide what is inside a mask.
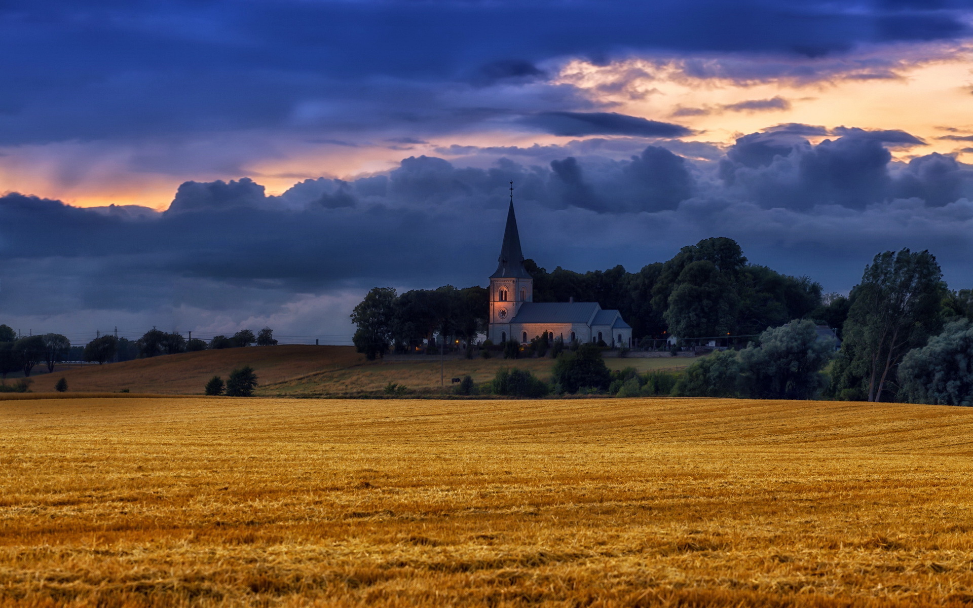
[[[608,367],[635,367],[639,371],[685,367],[692,359],[606,359]],[[257,394],[273,397],[321,397],[327,395],[380,394],[389,382],[403,384],[418,392],[440,389],[438,357],[414,355],[389,357],[385,361],[366,361],[353,346],[256,346],[200,350],[151,359],[135,359],[106,365],[59,367],[54,374],[31,376],[31,391],[54,391],[58,378],[64,377],[71,392],[159,393],[165,395],[202,394],[211,376],[224,379],[235,368],[249,365],[260,381]],[[486,382],[501,367],[530,370],[548,378],[552,359],[447,359],[443,365],[446,384],[450,379],[470,375]],[[40,369],[41,366],[38,366]]]

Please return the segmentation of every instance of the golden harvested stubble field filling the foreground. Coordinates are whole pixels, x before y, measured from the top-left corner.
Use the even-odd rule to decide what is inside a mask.
[[[973,411],[0,402],[0,606],[973,603]]]

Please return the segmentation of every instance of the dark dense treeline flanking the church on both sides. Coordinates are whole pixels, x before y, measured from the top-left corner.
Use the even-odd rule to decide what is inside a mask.
[[[671,260],[637,272],[622,266],[548,272],[532,260],[524,266],[534,279],[534,302],[574,298],[618,309],[635,340],[756,335],[796,318],[841,328],[847,316],[847,298],[822,298],[821,286],[807,276],[749,264],[732,238],[703,239],[683,247]],[[488,293],[479,286],[446,285],[401,295],[376,287],[351,314],[357,325],[354,343],[373,359],[390,349],[414,351],[423,343],[433,351],[444,341],[468,345],[486,332],[487,312]]]

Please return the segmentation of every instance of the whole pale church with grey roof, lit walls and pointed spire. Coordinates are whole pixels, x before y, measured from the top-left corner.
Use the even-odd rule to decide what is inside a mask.
[[[618,310],[602,310],[596,302],[573,302],[573,298],[571,302],[534,302],[534,280],[523,268],[521,235],[517,232],[511,193],[500,264],[489,277],[486,337],[494,343],[527,343],[544,334],[548,340],[603,341],[613,348],[631,347],[631,327]]]

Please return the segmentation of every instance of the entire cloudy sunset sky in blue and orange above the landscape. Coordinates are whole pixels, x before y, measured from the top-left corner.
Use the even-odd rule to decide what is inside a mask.
[[[973,0],[0,0],[0,323],[350,343],[374,286],[709,236],[973,287]]]

